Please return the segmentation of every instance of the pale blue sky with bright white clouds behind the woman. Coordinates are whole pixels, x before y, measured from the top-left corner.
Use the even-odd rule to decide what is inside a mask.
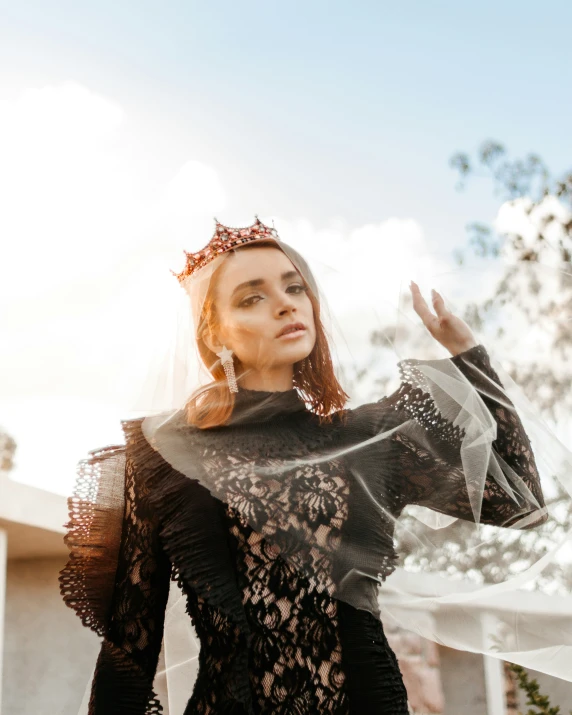
[[[364,300],[451,271],[466,224],[502,202],[484,175],[456,189],[455,152],[493,138],[570,168],[571,21],[566,2],[0,0],[14,478],[68,493],[77,460],[121,438],[166,332],[168,269],[214,216],[274,220],[351,270],[358,287],[332,303],[356,346]]]

